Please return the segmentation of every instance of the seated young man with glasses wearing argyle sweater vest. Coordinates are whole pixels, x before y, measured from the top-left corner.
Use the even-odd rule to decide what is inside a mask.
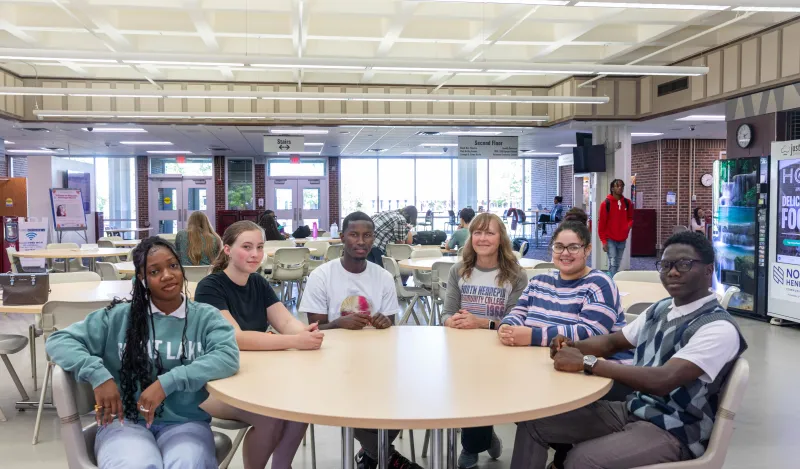
[[[556,370],[613,379],[634,392],[627,402],[598,401],[517,427],[512,469],[544,469],[549,443],[575,445],[565,468],[633,468],[703,455],[717,394],[747,348],[733,318],[709,292],[714,249],[702,235],[667,240],[657,268],[670,298],[622,331],[573,342],[558,336]],[[597,357],[635,349],[634,365]]]

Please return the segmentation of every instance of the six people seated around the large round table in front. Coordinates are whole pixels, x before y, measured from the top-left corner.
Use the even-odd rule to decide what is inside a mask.
[[[402,230],[416,216],[411,208],[344,219],[342,257],[308,278],[298,307],[307,323],[256,273],[265,242],[258,224],[239,221],[225,231],[213,273],[193,299],[182,255],[157,237],[140,243],[131,299],[115,299],[47,341],[53,362],[94,388],[99,467],[216,467],[209,425],[215,416],[251,426],[245,468],[262,469],[270,458],[273,469],[290,468],[307,424],[235,408],[209,397],[205,384],[235,374],[240,350],[313,351],[323,346],[325,330],[393,327],[399,311],[393,277],[367,258],[373,247],[384,251],[388,242],[407,241]],[[656,267],[670,297],[626,323],[614,281],[587,266],[592,246],[585,213],[568,212],[553,233],[557,270],[530,280],[500,217],[479,213],[464,221],[468,237],[446,282],[444,326],[495,330],[511,347],[550,347],[556,370],[614,381],[598,402],[519,422],[512,468],[544,469],[551,447],[556,469],[629,468],[703,454],[720,384],[747,346],[709,293],[714,250],[706,238],[684,232],[665,243]],[[215,244],[203,239],[204,246]],[[390,432],[390,443],[397,434]],[[461,468],[477,467],[484,451],[502,454],[492,427],[465,428],[461,435]],[[358,429],[355,436],[357,467],[376,468],[377,430]],[[393,448],[389,455],[391,468],[420,467]]]

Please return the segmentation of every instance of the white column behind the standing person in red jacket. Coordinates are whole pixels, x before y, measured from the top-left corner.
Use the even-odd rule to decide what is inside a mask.
[[[614,179],[625,181],[625,197],[631,197],[631,132],[626,124],[596,124],[592,127],[592,143],[606,146],[606,172],[593,173],[591,178],[590,204],[592,223],[592,266],[596,269],[608,270],[608,256],[603,252],[603,245],[597,234],[600,221],[600,204],[609,194],[609,184]],[[630,269],[631,243],[622,258],[620,270]]]

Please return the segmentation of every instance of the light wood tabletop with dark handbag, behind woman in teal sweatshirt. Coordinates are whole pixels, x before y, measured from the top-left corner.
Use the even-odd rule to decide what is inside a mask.
[[[189,295],[194,297],[197,283],[189,282]],[[115,297],[130,298],[133,285],[130,280],[105,280],[102,282],[73,282],[50,285],[50,301],[102,301],[109,303]],[[41,314],[44,305],[5,306],[0,301],[0,313]]]

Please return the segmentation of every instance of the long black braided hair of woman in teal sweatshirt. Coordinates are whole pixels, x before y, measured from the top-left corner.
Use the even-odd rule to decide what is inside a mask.
[[[183,364],[186,358],[186,329],[189,318],[189,292],[187,289],[186,273],[180,258],[172,245],[166,240],[157,236],[152,236],[143,240],[133,250],[133,266],[136,275],[133,279],[133,290],[131,300],[121,300],[114,298],[106,308],[111,309],[120,303],[130,303],[131,310],[128,316],[128,328],[125,330],[125,346],[122,351],[122,369],[120,370],[120,388],[122,389],[122,406],[125,409],[125,418],[134,423],[139,422],[139,409],[136,405],[136,396],[139,391],[144,391],[153,384],[156,377],[164,373],[164,366],[161,363],[161,354],[155,348],[156,334],[153,322],[153,312],[150,308],[150,288],[147,286],[147,256],[157,249],[168,249],[175,256],[178,265],[181,266],[181,273],[184,279],[184,297],[186,298],[186,318],[183,320],[183,332],[181,334],[181,355],[180,360]],[[151,336],[152,331],[152,336]],[[150,359],[148,343],[151,344],[153,359]],[[155,373],[153,367],[155,366]],[[155,411],[156,417],[160,417],[164,403]]]

